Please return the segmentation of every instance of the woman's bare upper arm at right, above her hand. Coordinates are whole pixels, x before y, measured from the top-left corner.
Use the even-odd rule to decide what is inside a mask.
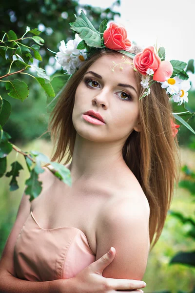
[[[131,194],[102,209],[97,228],[97,257],[109,247],[116,257],[103,271],[107,278],[141,280],[147,266],[150,208],[144,195]]]

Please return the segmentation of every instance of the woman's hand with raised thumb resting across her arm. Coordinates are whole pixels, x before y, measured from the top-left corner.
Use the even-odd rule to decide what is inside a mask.
[[[109,253],[110,252],[110,253]],[[146,284],[143,281],[113,279],[102,276],[103,270],[113,261],[116,255],[115,248],[100,257],[97,261],[90,264],[88,267],[79,272],[75,277],[67,279],[70,285],[70,292],[74,293],[115,293],[122,292],[143,292],[137,290],[144,288]],[[65,293],[62,284],[60,293]]]

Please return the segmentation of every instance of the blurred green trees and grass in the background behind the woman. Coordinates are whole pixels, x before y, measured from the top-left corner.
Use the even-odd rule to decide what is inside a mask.
[[[117,14],[117,5],[120,1],[108,9],[90,7],[89,5],[79,6],[77,1],[72,0],[16,0],[12,4],[2,0],[0,5],[0,32],[14,30],[18,36],[22,36],[26,26],[31,28],[42,24],[41,37],[45,40],[40,50],[43,61],[42,68],[47,68],[48,63],[52,66],[54,54],[47,50],[57,52],[61,40],[68,41],[73,37],[69,22],[75,21],[74,14],[84,9],[98,28],[100,21],[114,19]],[[115,11],[115,12],[114,12]],[[4,74],[6,63],[0,66],[0,76]],[[60,71],[63,73],[62,71]],[[17,77],[15,77],[17,78]],[[21,79],[21,76],[18,76]],[[38,137],[47,129],[49,113],[46,109],[47,97],[44,91],[34,80],[28,76],[22,76],[22,80],[29,84],[30,95],[21,103],[7,95],[4,84],[0,83],[0,94],[12,105],[12,112],[8,122],[3,129],[11,136],[11,142],[21,149],[38,150],[50,157],[51,142],[48,135],[44,135],[42,140]],[[56,92],[63,87],[63,78],[56,78],[52,85]],[[189,93],[189,106],[195,110],[195,91]],[[195,117],[188,121],[189,125],[195,129]],[[182,150],[183,164],[190,165],[195,170],[195,136],[184,126],[180,126],[178,140]],[[190,146],[191,150],[187,147]],[[10,165],[16,160],[16,152],[12,150],[8,161]],[[18,161],[24,165],[23,156],[18,156]],[[0,252],[3,250],[7,236],[16,218],[17,209],[20,203],[21,194],[24,190],[25,179],[29,177],[26,169],[19,177],[20,188],[10,192],[10,178],[0,178]],[[188,215],[194,213],[190,192],[184,188],[179,188],[172,203],[172,209],[178,210]],[[194,249],[195,243],[186,237],[184,232],[188,229],[176,218],[168,215],[162,235],[156,247],[149,255],[148,266],[143,280],[147,283],[145,292],[155,292],[159,290],[169,290],[173,293],[180,291],[190,292],[195,286],[195,269],[184,265],[169,265],[171,257],[177,251],[190,251]]]

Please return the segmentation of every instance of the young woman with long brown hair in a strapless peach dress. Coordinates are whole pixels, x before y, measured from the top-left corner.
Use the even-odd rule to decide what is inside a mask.
[[[178,143],[165,89],[152,84],[139,99],[141,74],[130,57],[121,66],[121,57],[97,50],[66,84],[49,129],[56,148],[51,161],[66,156],[72,187],[45,166],[39,197],[29,202],[23,194],[0,262],[0,292],[145,287],[148,253],[178,180]]]

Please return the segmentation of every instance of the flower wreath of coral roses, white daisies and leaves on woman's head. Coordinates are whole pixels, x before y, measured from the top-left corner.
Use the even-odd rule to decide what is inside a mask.
[[[185,105],[185,102],[188,103],[188,91],[191,87],[188,74],[184,71],[187,63],[178,60],[166,61],[164,47],[149,46],[136,55],[130,53],[132,42],[127,39],[127,31],[122,24],[111,22],[110,27],[107,28],[107,21],[103,20],[97,31],[83,10],[76,17],[76,21],[69,24],[75,33],[75,40],[69,40],[67,44],[61,41],[59,52],[55,57],[62,68],[66,70],[66,74],[71,77],[82,66],[83,62],[97,50],[103,48],[116,50],[122,54],[122,62],[118,64],[113,62],[111,70],[114,71],[116,66],[122,69],[121,64],[124,63],[134,66],[134,70],[142,75],[141,85],[145,89],[139,99],[150,94],[152,84],[161,83],[161,87],[166,89],[168,99],[171,102],[178,103],[178,105],[183,103],[184,108],[187,110],[173,113],[173,115],[195,134],[192,127],[178,115],[186,113],[188,113],[188,117],[189,114],[190,117],[194,115]],[[126,60],[124,55],[132,58],[133,63]],[[176,136],[180,125],[176,125],[171,119],[171,126],[173,136]]]

